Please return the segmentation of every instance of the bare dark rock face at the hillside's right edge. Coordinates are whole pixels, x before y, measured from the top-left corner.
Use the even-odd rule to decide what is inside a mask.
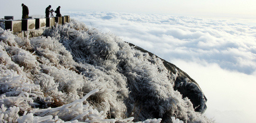
[[[128,43],[128,44],[141,52],[148,53],[151,56],[155,55],[134,44],[131,44],[131,43]],[[179,91],[183,95],[183,98],[188,97],[191,100],[193,104],[193,108],[196,112],[204,113],[204,111],[207,108],[206,106],[207,98],[203,94],[198,83],[194,79],[192,79],[187,73],[185,73],[183,70],[180,70],[178,67],[176,67],[174,64],[167,62],[164,59],[161,59],[161,60],[163,61],[165,68],[168,71],[170,71],[170,73],[178,74],[177,78],[174,79],[174,90]]]

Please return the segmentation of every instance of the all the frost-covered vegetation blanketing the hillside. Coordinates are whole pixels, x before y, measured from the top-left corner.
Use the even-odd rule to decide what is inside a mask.
[[[212,122],[177,73],[111,33],[72,19],[30,39],[0,28],[0,41],[1,122]]]

